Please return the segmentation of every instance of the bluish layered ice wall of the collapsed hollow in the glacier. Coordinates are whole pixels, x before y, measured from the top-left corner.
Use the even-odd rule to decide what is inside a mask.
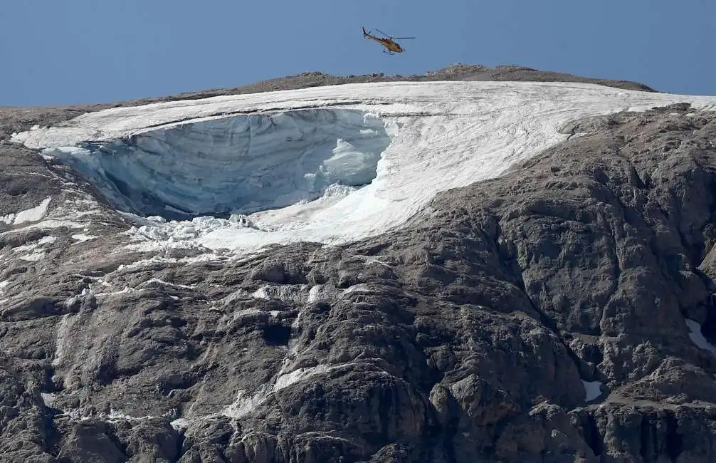
[[[110,142],[46,151],[118,209],[146,216],[251,214],[311,201],[376,176],[390,144],[360,110],[286,110],[175,123]]]

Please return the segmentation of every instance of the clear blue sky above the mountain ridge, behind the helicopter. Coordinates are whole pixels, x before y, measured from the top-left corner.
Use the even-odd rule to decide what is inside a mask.
[[[361,27],[415,36],[389,56]],[[714,0],[4,0],[0,106],[523,65],[716,95]]]

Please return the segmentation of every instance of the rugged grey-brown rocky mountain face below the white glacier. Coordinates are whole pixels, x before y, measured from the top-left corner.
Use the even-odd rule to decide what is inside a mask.
[[[405,229],[242,260],[117,252],[126,216],[3,143],[1,460],[716,460],[716,115],[562,130]]]

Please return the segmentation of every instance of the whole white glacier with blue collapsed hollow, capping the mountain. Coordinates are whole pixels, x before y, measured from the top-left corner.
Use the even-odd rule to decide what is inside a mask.
[[[440,191],[566,140],[571,121],[677,102],[716,108],[575,82],[370,82],[111,108],[12,140],[144,216],[132,249],[241,254],[404,226]]]

